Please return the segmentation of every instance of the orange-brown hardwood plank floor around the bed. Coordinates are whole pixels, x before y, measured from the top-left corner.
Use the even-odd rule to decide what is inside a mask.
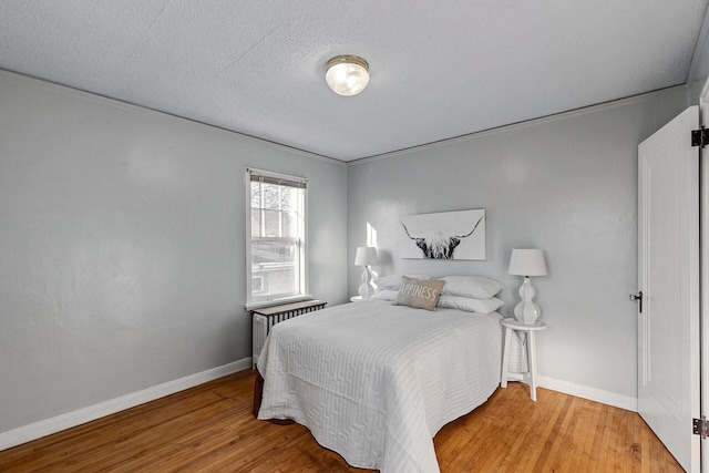
[[[367,472],[251,415],[242,371],[0,452],[0,472]],[[434,439],[441,472],[681,472],[638,414],[510,383]]]

